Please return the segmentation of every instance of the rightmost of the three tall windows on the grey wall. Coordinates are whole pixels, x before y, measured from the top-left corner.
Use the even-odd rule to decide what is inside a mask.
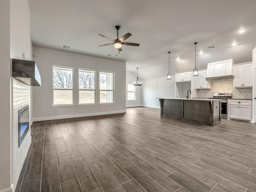
[[[114,103],[114,72],[100,71],[100,103]]]

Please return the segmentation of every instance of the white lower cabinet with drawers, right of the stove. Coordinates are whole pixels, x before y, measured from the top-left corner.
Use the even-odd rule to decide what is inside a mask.
[[[252,120],[251,105],[251,100],[228,100],[228,118],[248,121]]]

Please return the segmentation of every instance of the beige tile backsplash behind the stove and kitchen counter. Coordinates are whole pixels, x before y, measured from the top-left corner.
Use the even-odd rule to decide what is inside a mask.
[[[233,80],[212,81],[212,89],[198,90],[198,98],[212,97],[213,93],[232,93],[233,99],[252,99],[252,87],[234,88]],[[240,92],[240,95],[238,94]]]

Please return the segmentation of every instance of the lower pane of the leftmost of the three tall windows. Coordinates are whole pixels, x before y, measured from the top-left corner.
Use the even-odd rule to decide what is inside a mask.
[[[73,90],[53,90],[54,105],[73,104]]]

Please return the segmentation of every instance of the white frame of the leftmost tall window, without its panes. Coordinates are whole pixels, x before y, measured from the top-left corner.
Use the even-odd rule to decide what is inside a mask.
[[[59,68],[68,68],[72,69],[72,89],[67,89],[67,88],[54,88],[54,79],[53,79],[53,70],[54,67],[59,67]],[[52,65],[52,108],[59,108],[59,107],[74,107],[75,106],[75,98],[74,98],[74,67],[69,67],[69,66],[60,66],[60,65]],[[54,90],[72,90],[72,104],[54,104]]]

